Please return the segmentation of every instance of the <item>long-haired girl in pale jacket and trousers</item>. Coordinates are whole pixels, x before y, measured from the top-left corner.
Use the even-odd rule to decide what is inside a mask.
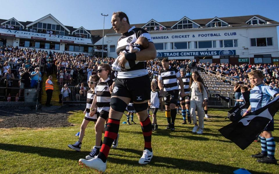
[[[198,74],[198,71],[194,71],[192,73],[192,78],[190,78],[190,92],[189,95],[191,96],[190,101],[190,114],[193,120],[193,124],[195,125],[192,132],[197,134],[203,133],[203,117],[204,110],[203,107],[206,105],[206,100],[208,99],[208,95],[205,89],[205,85],[201,76]],[[198,124],[197,124],[197,117],[196,117],[196,109],[198,112]],[[199,130],[197,131],[199,127]]]

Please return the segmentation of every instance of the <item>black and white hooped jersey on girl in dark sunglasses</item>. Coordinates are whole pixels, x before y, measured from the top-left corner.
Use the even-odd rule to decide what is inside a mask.
[[[95,93],[97,95],[97,111],[100,113],[102,110],[110,111],[110,86],[113,80],[108,78],[105,81],[97,81]]]

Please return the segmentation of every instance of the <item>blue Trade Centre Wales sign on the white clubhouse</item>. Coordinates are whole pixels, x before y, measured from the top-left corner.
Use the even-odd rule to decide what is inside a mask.
[[[156,57],[230,56],[230,55],[235,55],[235,50],[157,52]]]

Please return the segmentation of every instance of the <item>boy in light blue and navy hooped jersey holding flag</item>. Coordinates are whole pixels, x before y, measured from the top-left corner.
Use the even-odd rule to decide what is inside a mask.
[[[248,73],[248,77],[250,83],[254,85],[254,88],[250,91],[251,104],[246,113],[243,114],[243,117],[249,112],[253,112],[265,106],[269,102],[270,97],[277,97],[279,95],[279,93],[276,90],[273,90],[270,86],[265,86],[264,84],[262,84],[264,75],[261,70],[251,71],[250,73]],[[262,152],[251,155],[251,157],[253,158],[259,158],[257,162],[277,164],[277,161],[274,157],[275,141],[272,137],[271,131],[274,131],[273,119],[260,134]]]

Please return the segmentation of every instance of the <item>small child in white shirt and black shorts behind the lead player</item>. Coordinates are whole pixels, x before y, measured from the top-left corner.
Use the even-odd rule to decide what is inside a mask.
[[[160,105],[160,95],[159,92],[156,91],[157,84],[151,82],[151,98],[148,100],[148,105],[152,109],[152,131],[156,131],[158,129],[156,113],[159,109]]]

